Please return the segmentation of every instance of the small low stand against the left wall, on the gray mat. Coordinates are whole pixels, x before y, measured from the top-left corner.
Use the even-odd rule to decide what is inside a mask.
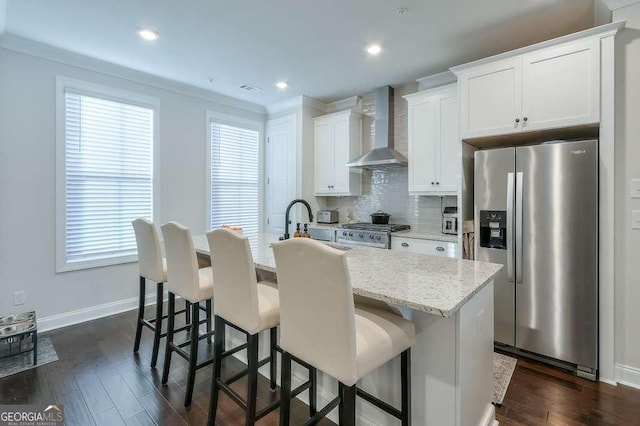
[[[0,317],[0,359],[30,351],[33,351],[33,365],[38,365],[35,311]]]

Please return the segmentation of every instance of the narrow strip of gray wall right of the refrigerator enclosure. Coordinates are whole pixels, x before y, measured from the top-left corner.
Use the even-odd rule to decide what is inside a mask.
[[[616,36],[615,298],[616,363],[636,370],[640,386],[640,231],[631,230],[630,180],[640,178],[640,4],[614,11],[627,19]]]

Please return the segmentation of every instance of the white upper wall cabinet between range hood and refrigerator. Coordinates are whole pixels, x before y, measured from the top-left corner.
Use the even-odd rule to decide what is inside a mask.
[[[456,195],[461,164],[456,85],[405,99],[409,104],[409,193]]]

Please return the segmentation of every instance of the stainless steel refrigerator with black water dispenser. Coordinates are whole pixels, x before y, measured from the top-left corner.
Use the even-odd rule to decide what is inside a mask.
[[[595,379],[598,141],[475,153],[476,259],[501,263],[495,341]]]

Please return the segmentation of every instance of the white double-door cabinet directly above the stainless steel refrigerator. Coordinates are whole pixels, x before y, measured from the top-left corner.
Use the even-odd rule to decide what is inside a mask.
[[[456,71],[462,139],[599,122],[599,40]]]

